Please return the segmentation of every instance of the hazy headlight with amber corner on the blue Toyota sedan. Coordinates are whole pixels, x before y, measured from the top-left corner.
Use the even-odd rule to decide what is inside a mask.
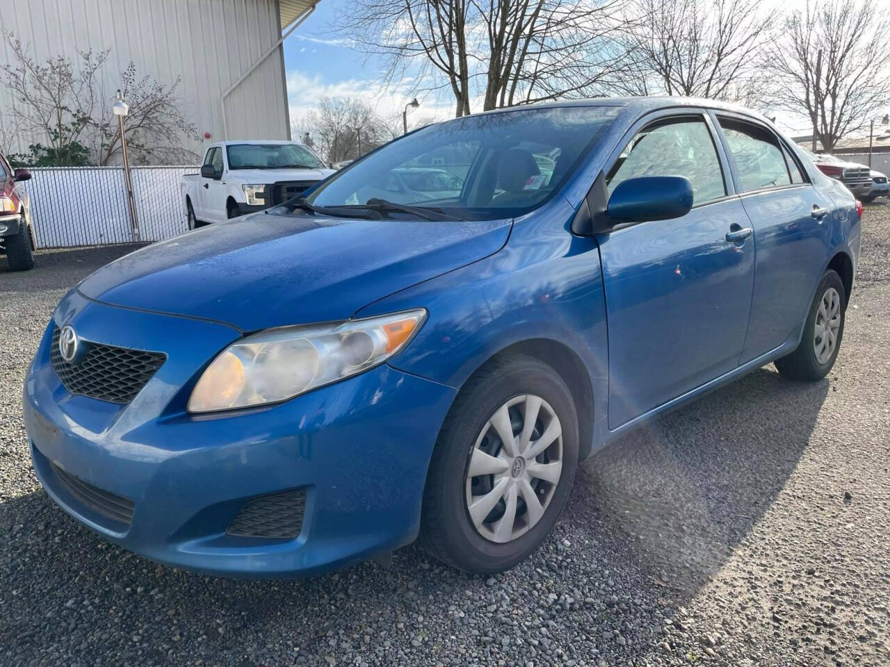
[[[331,325],[269,329],[232,343],[189,398],[190,413],[294,398],[367,371],[399,352],[424,323],[424,309]]]

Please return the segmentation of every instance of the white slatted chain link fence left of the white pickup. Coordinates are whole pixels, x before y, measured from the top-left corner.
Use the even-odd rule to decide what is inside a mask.
[[[31,202],[36,245],[64,248],[160,241],[188,227],[180,197],[183,174],[198,166],[132,167],[137,228],[126,203],[124,169],[38,167],[24,183]]]

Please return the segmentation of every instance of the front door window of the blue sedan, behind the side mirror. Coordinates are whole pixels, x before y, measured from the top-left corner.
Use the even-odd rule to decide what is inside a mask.
[[[673,118],[636,133],[606,178],[609,194],[641,176],[685,176],[692,182],[693,205],[726,194],[714,141],[700,118]]]

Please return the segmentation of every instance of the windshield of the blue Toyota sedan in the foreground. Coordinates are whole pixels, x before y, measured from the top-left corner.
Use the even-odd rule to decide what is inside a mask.
[[[430,125],[337,173],[307,200],[317,207],[383,200],[461,220],[528,213],[562,187],[619,110],[524,108]]]

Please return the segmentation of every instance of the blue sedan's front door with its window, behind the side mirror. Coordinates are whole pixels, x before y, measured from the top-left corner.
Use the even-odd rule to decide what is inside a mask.
[[[678,115],[678,113],[680,115]],[[690,213],[599,235],[609,322],[609,427],[732,371],[754,280],[754,240],[705,111],[638,123],[606,171],[692,181]],[[727,238],[727,234],[734,234]]]

